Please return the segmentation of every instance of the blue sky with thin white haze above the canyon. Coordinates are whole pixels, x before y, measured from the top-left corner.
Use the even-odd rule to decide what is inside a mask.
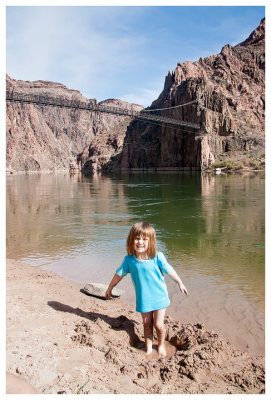
[[[177,62],[245,40],[263,6],[8,6],[6,72],[148,106]]]

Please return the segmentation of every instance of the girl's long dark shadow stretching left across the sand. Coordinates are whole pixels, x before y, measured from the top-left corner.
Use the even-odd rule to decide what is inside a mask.
[[[136,348],[140,348],[144,342],[142,342],[135,332],[135,324],[137,321],[127,318],[125,315],[120,315],[119,317],[109,317],[105,314],[86,312],[80,308],[73,308],[67,304],[62,304],[58,301],[48,301],[47,303],[56,311],[69,312],[71,314],[78,315],[82,318],[89,319],[90,321],[96,322],[98,318],[105,321],[112,329],[116,331],[124,330],[128,333],[130,337],[130,345]]]

